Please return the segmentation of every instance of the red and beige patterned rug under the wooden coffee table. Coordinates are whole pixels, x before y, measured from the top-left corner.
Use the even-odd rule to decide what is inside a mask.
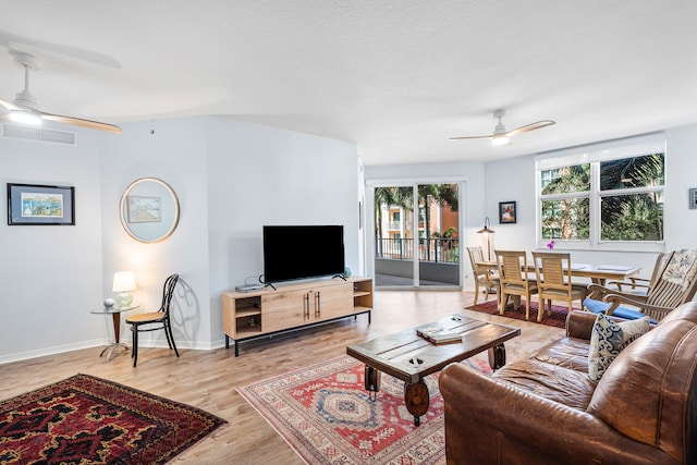
[[[463,363],[491,372],[486,354]],[[437,377],[425,379],[430,406],[416,427],[404,405],[404,382],[383,374],[377,399],[370,401],[364,367],[342,356],[237,392],[307,464],[444,464]]]

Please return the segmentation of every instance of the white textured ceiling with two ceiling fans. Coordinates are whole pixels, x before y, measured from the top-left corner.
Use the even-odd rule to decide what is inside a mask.
[[[109,123],[217,114],[358,144],[365,164],[491,160],[697,123],[697,2],[0,0],[0,96]],[[489,134],[505,108],[506,147]],[[2,111],[0,109],[0,111]]]

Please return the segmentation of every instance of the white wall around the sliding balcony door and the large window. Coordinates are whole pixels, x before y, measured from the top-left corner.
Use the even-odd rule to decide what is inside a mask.
[[[693,231],[697,227],[697,209],[687,207],[688,189],[697,187],[695,147],[697,125],[668,130],[665,162],[667,188],[664,197],[665,249],[697,247]],[[589,142],[595,143],[595,140]],[[428,176],[462,179],[466,183],[465,207],[466,242],[481,245],[482,237],[476,231],[489,217],[492,248],[537,248],[535,234],[535,155],[489,161],[487,163],[430,163],[405,166],[366,167],[366,182],[387,180],[418,181]],[[499,224],[499,203],[516,201],[517,218],[514,224]],[[368,212],[369,215],[369,212]],[[643,268],[650,276],[656,253],[585,252],[573,250],[574,260],[595,264],[627,264]],[[370,257],[368,257],[370,258]],[[469,274],[468,264],[464,271]],[[464,289],[474,287],[470,277]]]

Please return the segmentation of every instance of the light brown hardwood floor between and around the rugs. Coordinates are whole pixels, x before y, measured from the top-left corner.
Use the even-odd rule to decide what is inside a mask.
[[[364,342],[441,316],[463,313],[522,329],[522,336],[506,343],[509,362],[524,357],[563,330],[538,323],[503,319],[464,310],[472,292],[377,291],[372,323],[366,315],[271,339],[252,341],[234,350],[140,348],[138,366],[130,353],[107,363],[101,347],[5,364],[0,367],[0,399],[59,381],[82,372],[131,386],[152,394],[195,405],[229,421],[213,435],[171,463],[195,464],[303,464],[285,441],[237,394],[235,388],[313,363],[345,354],[348,344]]]

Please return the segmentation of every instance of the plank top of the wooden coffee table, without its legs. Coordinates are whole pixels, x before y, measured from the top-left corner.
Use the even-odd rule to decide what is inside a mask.
[[[462,334],[463,342],[432,344],[416,334],[417,329],[433,325]],[[428,325],[348,345],[346,354],[398,379],[417,382],[451,363],[462,362],[516,335],[521,335],[519,328],[453,314]]]

